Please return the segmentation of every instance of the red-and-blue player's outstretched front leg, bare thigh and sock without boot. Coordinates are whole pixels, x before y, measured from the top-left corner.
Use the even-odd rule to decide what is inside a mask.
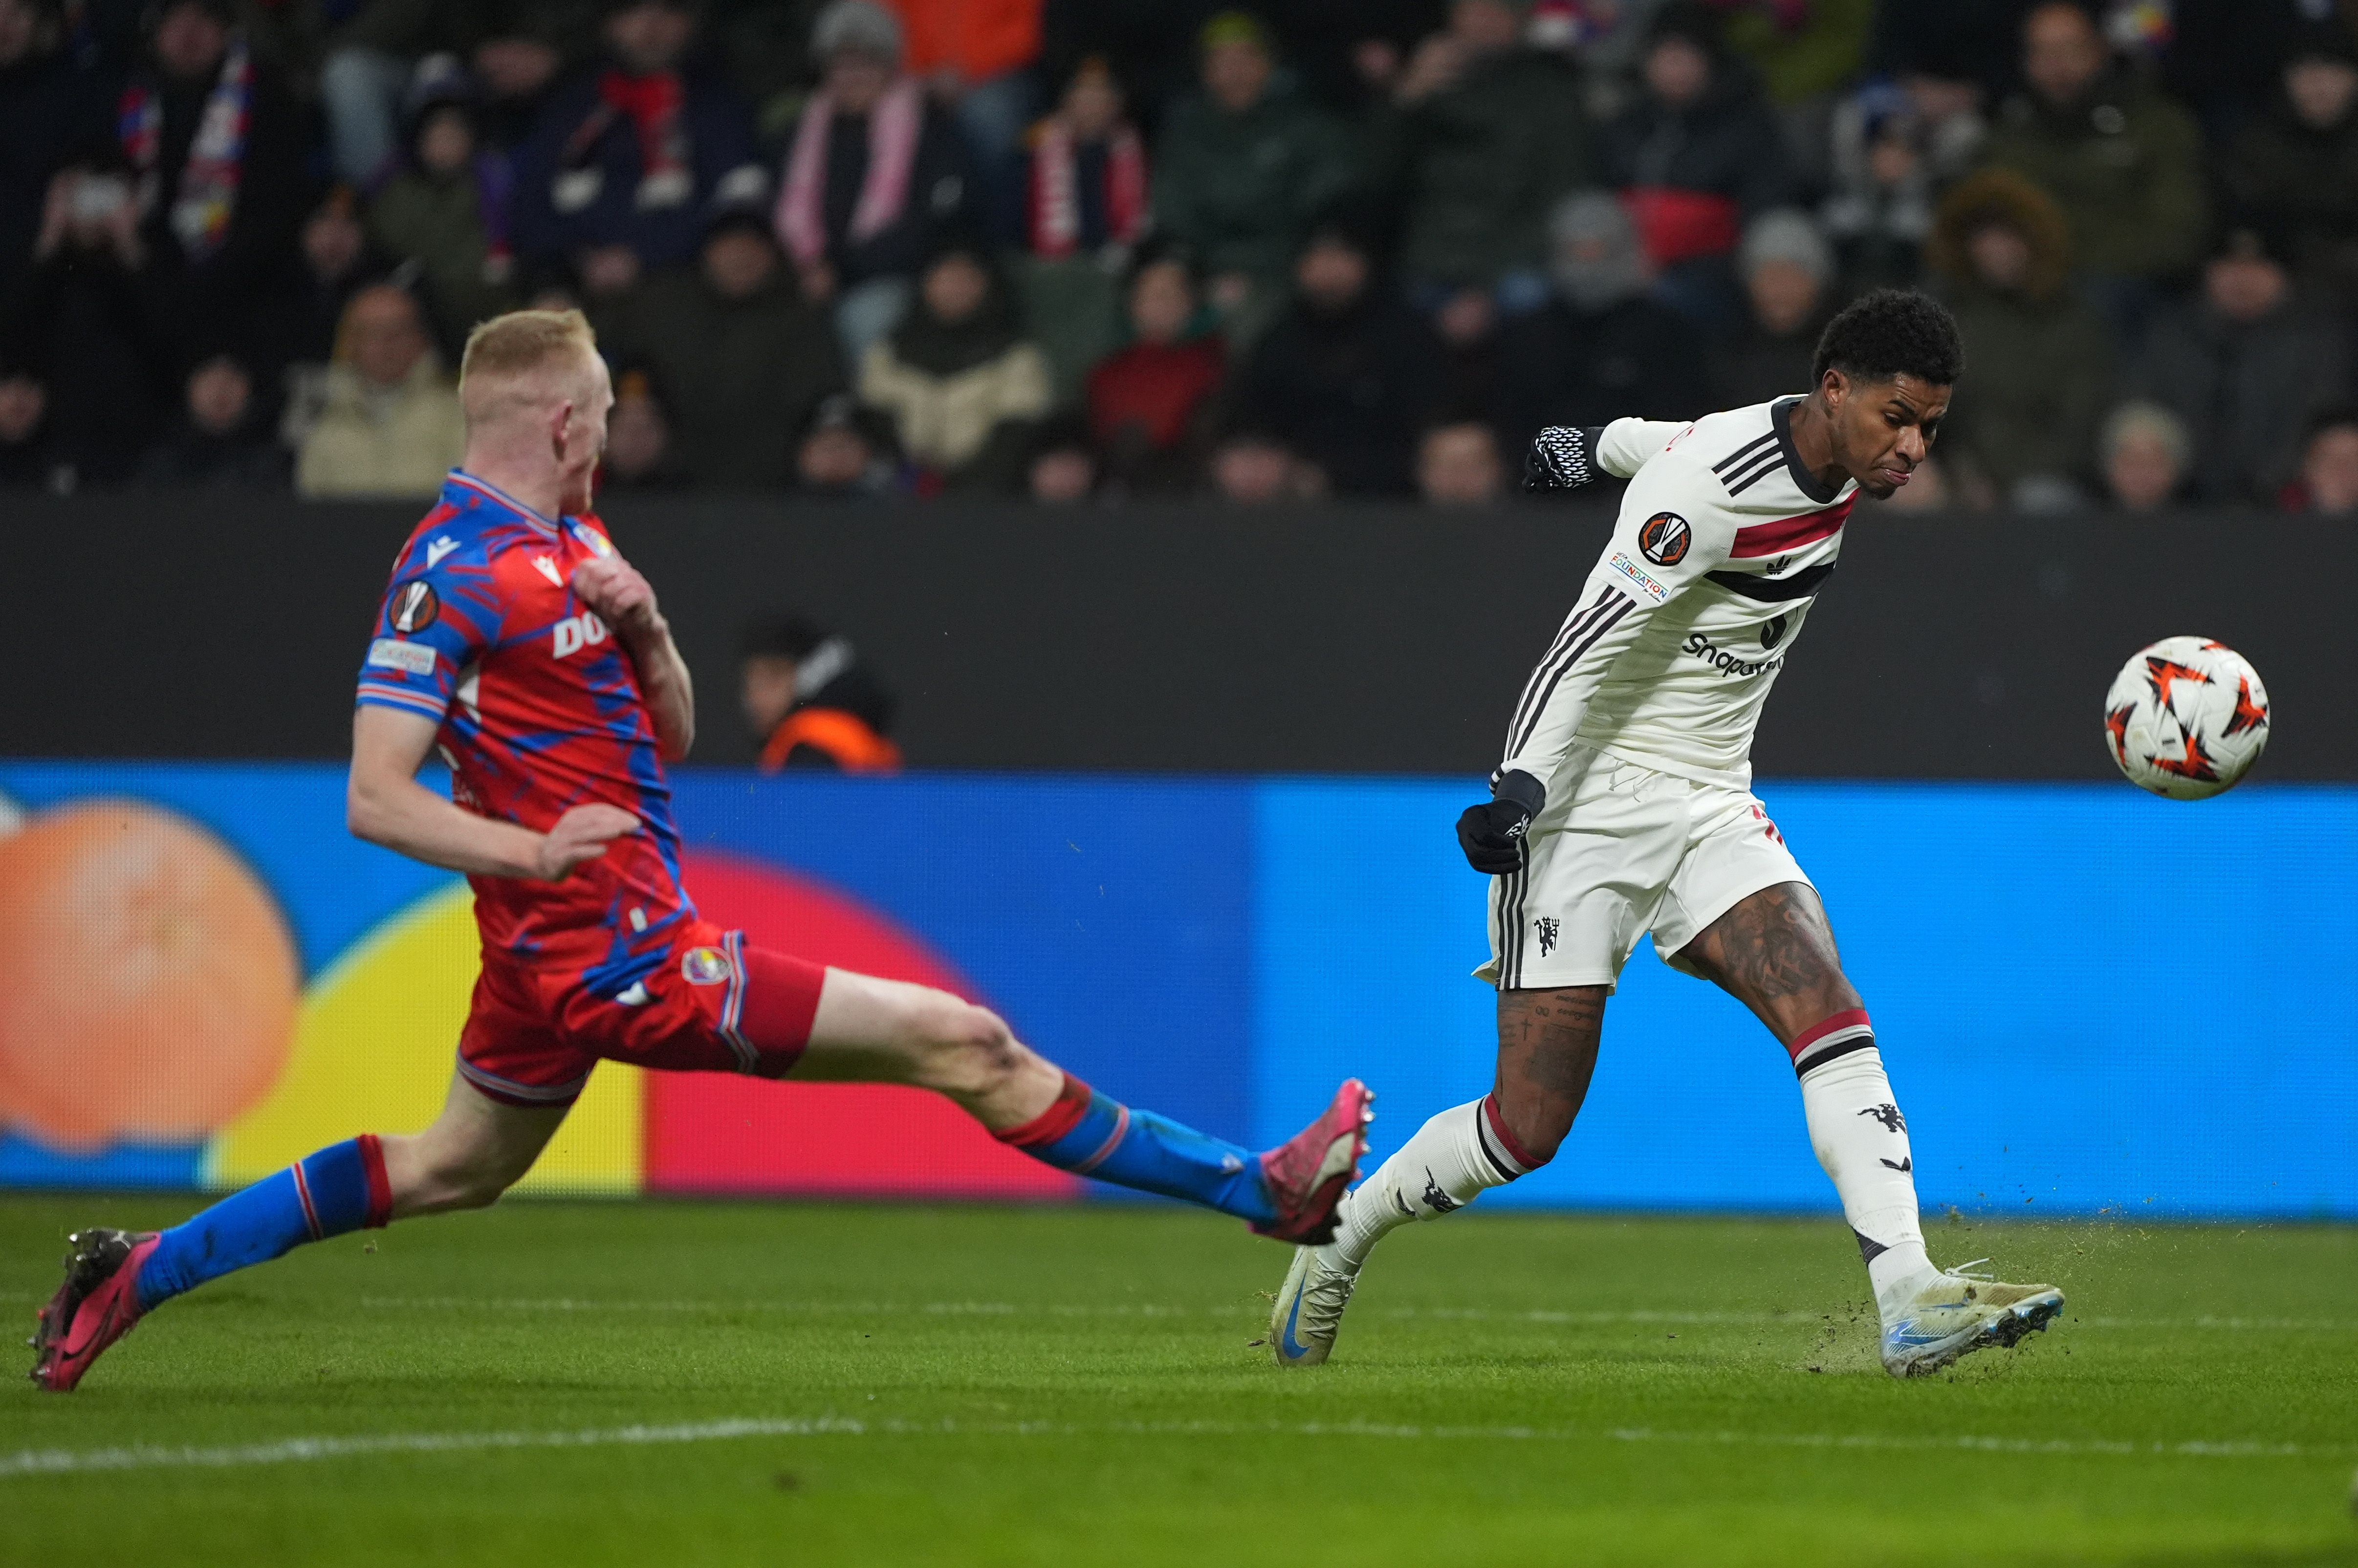
[[[811,1042],[788,1078],[896,1082],[948,1094],[1045,1165],[1273,1224],[1262,1158],[1099,1094],[946,990],[828,969]]]

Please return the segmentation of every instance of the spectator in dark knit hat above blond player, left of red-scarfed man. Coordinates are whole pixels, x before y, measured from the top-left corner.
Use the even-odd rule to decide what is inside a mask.
[[[417,262],[436,340],[453,361],[479,321],[516,309],[507,238],[512,170],[483,146],[476,87],[450,57],[417,66],[401,170],[368,205],[375,248]]]

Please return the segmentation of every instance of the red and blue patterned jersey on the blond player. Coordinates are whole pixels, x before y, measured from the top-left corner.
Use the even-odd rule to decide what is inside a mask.
[[[486,957],[599,997],[653,971],[696,920],[639,672],[571,587],[575,566],[611,552],[594,516],[549,521],[453,472],[394,564],[358,691],[441,724],[450,797],[469,811],[535,832],[590,802],[639,816],[564,882],[469,877]]]

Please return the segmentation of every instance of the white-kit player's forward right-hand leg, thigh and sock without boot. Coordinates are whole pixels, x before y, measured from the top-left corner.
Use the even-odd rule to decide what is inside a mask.
[[[1842,1195],[1884,1316],[1934,1276],[1917,1219],[1915,1153],[1875,1049],[1875,1026],[1842,974],[1825,905],[1806,882],[1743,898],[1674,955],[1752,1009],[1792,1056],[1818,1165]]]

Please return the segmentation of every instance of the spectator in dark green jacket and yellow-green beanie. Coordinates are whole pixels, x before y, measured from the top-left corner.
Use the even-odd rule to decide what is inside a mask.
[[[1259,19],[1221,12],[1200,47],[1203,94],[1162,125],[1155,224],[1193,252],[1229,342],[1245,344],[1283,302],[1309,217],[1351,186],[1356,165],[1342,127],[1273,83]]]

